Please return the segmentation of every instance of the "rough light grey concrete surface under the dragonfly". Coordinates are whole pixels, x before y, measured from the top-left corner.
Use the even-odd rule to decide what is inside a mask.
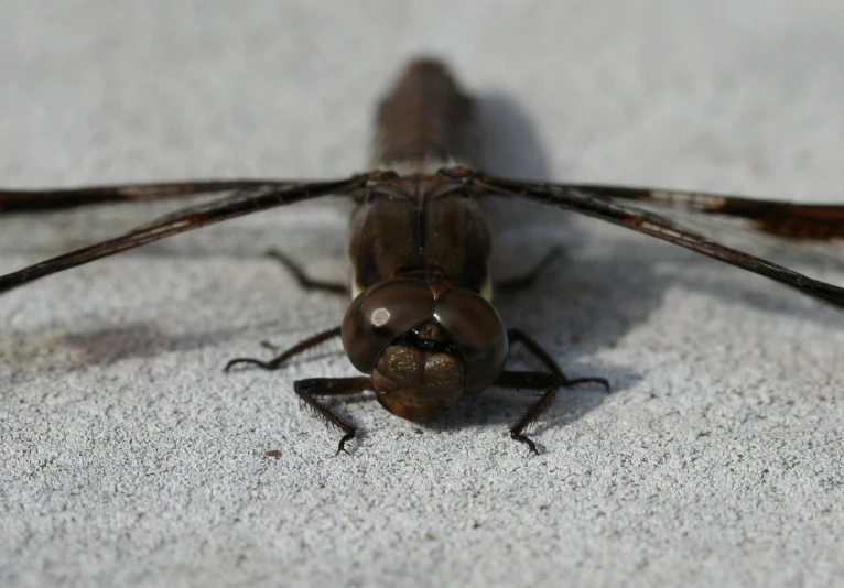
[[[480,97],[501,173],[844,203],[841,2],[3,0],[0,23],[7,186],[342,176],[425,52]],[[0,271],[171,208],[2,217]],[[507,435],[513,394],[430,426],[350,402],[361,436],[335,458],[292,382],[353,373],[338,347],[220,368],[338,323],[344,300],[261,252],[345,275],[345,213],[257,215],[0,298],[0,585],[844,582],[841,313],[533,211],[501,273],[550,242],[566,259],[500,311],[615,393],[561,395],[539,457]]]

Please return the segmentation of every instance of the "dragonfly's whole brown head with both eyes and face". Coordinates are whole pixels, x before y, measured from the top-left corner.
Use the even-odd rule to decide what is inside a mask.
[[[343,320],[351,363],[372,377],[378,401],[410,421],[439,415],[504,369],[507,331],[481,296],[415,280],[364,291]]]

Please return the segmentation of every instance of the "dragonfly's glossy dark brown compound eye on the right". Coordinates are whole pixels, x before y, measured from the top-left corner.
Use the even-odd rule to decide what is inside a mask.
[[[507,329],[498,312],[468,290],[450,290],[436,301],[434,317],[448,331],[466,362],[466,391],[489,386],[507,360]]]

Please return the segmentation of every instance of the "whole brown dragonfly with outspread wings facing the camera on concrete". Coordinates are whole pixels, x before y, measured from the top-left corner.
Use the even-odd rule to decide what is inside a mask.
[[[367,173],[304,183],[199,181],[0,190],[3,213],[230,193],[2,275],[0,293],[214,222],[325,195],[350,196],[357,203],[349,237],[354,300],[342,326],[316,334],[270,361],[238,358],[226,367],[279,369],[303,351],[339,337],[349,360],[365,375],[294,383],[295,393],[343,433],[337,453],[346,450],[355,427],[323,402],[328,396],[372,391],[389,412],[422,421],[440,415],[461,396],[489,386],[533,391],[532,402],[510,435],[538,453],[524,431],[561,388],[594,383],[608,390],[603,378],[569,378],[532,338],[502,324],[489,302],[491,246],[481,205],[488,195],[533,200],[620,225],[844,307],[844,288],[715,242],[666,216],[672,210],[715,215],[740,219],[750,229],[783,239],[832,240],[844,237],[844,206],[508,179],[479,171],[477,141],[473,100],[442,63],[418,58],[380,104],[372,171]],[[342,287],[309,281],[285,258],[280,261],[305,285]],[[505,369],[516,344],[524,346],[544,369]]]

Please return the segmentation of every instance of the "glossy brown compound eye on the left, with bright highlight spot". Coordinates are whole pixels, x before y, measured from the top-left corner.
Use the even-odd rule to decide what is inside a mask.
[[[415,280],[386,280],[361,292],[343,319],[343,348],[351,364],[371,373],[393,339],[434,314],[431,288]]]

